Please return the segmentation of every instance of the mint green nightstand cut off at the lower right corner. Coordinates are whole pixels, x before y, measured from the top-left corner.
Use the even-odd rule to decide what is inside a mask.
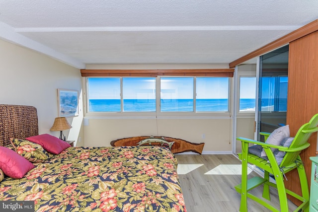
[[[310,157],[312,162],[312,177],[310,185],[310,212],[318,212],[318,157]]]

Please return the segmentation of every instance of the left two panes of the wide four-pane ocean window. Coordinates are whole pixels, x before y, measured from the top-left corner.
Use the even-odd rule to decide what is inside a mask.
[[[156,111],[156,78],[124,77],[123,111]],[[120,77],[87,78],[88,111],[120,112]]]

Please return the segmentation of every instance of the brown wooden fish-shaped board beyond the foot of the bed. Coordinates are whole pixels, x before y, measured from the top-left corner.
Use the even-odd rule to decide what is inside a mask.
[[[139,141],[142,141],[144,139],[151,138],[150,136],[138,136],[138,137],[130,137],[130,138],[124,138],[124,139],[117,139],[114,141],[111,141],[110,144],[112,146],[137,146]],[[154,136],[153,138],[163,138],[165,141],[168,142],[174,142],[171,147],[172,153],[180,153],[180,152],[186,152],[186,151],[193,151],[199,154],[202,154],[204,143],[192,143],[189,141],[185,141],[182,139],[174,139],[170,137],[164,137],[164,136]]]

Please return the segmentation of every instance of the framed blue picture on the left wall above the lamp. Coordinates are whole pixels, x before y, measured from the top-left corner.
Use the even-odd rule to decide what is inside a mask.
[[[77,90],[58,89],[59,117],[79,115],[79,92]]]

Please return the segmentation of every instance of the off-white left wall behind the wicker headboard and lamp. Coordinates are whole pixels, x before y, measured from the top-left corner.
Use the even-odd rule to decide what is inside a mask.
[[[50,131],[55,117],[58,117],[57,89],[74,89],[81,95],[79,69],[0,40],[0,73],[0,104],[35,106],[39,134],[59,137],[60,132]],[[73,126],[71,130],[64,131],[68,140],[78,141],[79,137],[83,137],[80,131],[83,118],[81,105],[79,113],[78,117],[68,118]]]

